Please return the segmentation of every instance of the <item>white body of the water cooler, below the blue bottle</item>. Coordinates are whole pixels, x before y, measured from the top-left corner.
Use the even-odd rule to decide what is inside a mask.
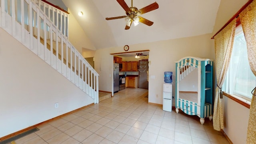
[[[163,110],[172,112],[172,84],[164,84]]]

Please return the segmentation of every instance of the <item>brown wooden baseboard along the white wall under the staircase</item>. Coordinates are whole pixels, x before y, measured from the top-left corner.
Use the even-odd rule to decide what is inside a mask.
[[[62,116],[66,116],[66,115],[68,115],[68,114],[71,114],[71,113],[73,113],[73,112],[76,112],[76,111],[81,110],[81,109],[83,109],[83,108],[87,108],[87,107],[92,106],[92,105],[94,105],[94,103],[88,104],[87,106],[83,106],[83,107],[78,108],[78,109],[76,109],[76,110],[72,110],[72,111],[67,112],[67,113],[65,113],[65,114],[62,114],[62,115],[60,115],[60,116],[56,116],[56,117],[54,117],[54,118],[51,118],[50,120],[46,120],[46,121],[44,121],[44,122],[40,122],[39,124],[35,124],[34,126],[30,126],[30,127],[28,127],[28,128],[24,128],[23,130],[19,130],[18,132],[14,132],[14,133],[12,133],[12,134],[8,134],[7,136],[3,136],[2,138],[0,138],[0,142],[2,142],[3,140],[6,140],[6,139],[8,139],[8,138],[11,138],[11,137],[13,137],[13,136],[16,136],[16,135],[18,135],[18,134],[21,134],[21,133],[23,133],[23,132],[26,132],[26,131],[28,131],[28,130],[32,130],[33,128],[36,128],[36,127],[38,127],[38,126],[40,126],[40,125],[42,125],[42,124],[46,124],[46,123],[48,123],[48,122],[52,122],[53,120],[56,120],[56,119],[58,119],[58,118],[61,118]]]

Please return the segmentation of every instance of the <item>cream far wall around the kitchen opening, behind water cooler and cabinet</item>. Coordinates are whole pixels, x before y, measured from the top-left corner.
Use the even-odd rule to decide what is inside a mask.
[[[149,75],[155,79],[149,79],[149,98],[151,103],[162,104],[162,90],[164,84],[164,72],[171,71],[175,82],[175,61],[185,56],[201,58],[214,58],[212,53],[213,40],[211,34],[165,40],[159,42],[131,45],[129,51],[150,50],[149,52]],[[105,48],[96,50],[95,70],[100,74],[99,90],[112,91],[113,56],[111,53],[124,52],[122,47]],[[150,77],[149,76],[149,77]],[[175,83],[173,84],[173,90]],[[156,98],[158,94],[158,98]],[[173,93],[173,96],[175,93]]]

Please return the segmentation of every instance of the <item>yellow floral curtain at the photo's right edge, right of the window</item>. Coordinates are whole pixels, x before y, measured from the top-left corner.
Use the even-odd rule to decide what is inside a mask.
[[[256,1],[254,0],[240,14],[240,21],[247,45],[248,60],[252,73],[256,76]],[[252,96],[247,128],[247,144],[256,144],[256,90]]]

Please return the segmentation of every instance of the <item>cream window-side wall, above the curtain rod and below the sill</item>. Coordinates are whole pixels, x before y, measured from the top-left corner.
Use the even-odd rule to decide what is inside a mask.
[[[212,36],[220,30],[246,2],[248,2],[248,0],[221,0]],[[245,144],[249,109],[225,96],[222,100],[224,108],[224,132],[233,144]]]

